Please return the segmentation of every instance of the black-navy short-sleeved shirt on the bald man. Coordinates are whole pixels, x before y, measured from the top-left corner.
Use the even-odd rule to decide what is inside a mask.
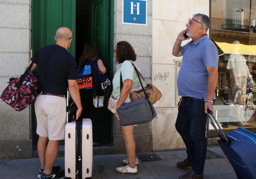
[[[37,52],[38,58],[33,61],[37,64],[41,92],[66,95],[67,80],[76,79],[74,57],[57,44],[45,46]]]

